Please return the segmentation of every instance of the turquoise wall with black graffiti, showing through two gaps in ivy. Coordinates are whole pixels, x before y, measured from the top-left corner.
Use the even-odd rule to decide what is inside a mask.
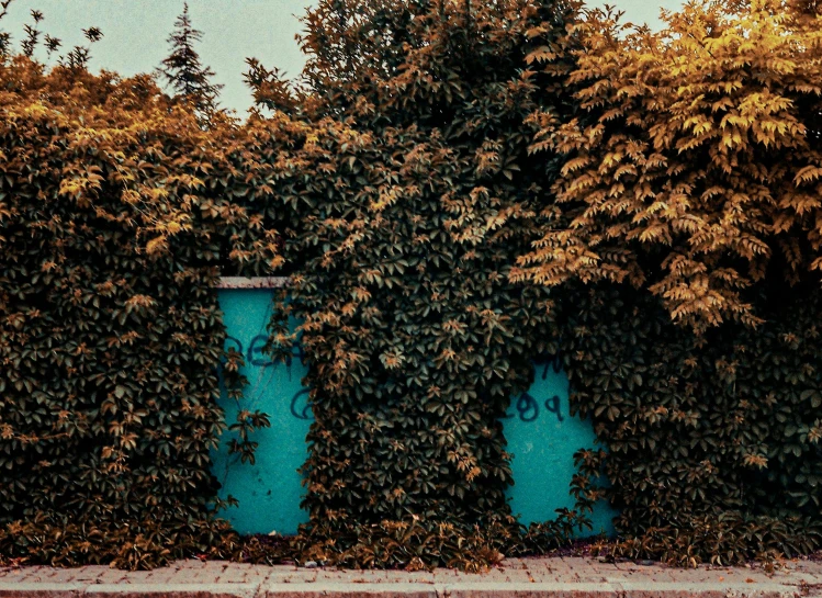
[[[219,292],[228,335],[226,347],[234,347],[246,358],[244,373],[249,385],[244,407],[264,411],[271,419],[270,428],[255,432],[259,449],[254,465],[229,458],[230,432],[224,433],[212,455],[214,474],[223,485],[221,496],[239,500],[238,508],[221,515],[240,533],[291,534],[307,520],[300,509],[304,489],[296,472],[306,458],[305,436],[312,419],[307,392],[301,384],[307,372],[296,351],[288,364],[273,364],[261,352],[272,296],[270,290]],[[221,400],[226,421],[232,422],[237,405],[225,394]],[[575,471],[573,454],[594,445],[594,431],[588,421],[571,417],[567,377],[561,369],[554,363],[538,364],[533,385],[511,399],[504,426],[508,451],[514,454],[510,503],[520,521],[545,521],[555,517],[555,509],[572,508],[568,484]],[[612,516],[606,505],[599,505],[594,514],[594,533],[611,533]]]

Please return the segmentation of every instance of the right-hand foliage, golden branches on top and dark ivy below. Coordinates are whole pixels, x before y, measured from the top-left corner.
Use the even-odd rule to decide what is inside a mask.
[[[660,34],[595,11],[577,31],[581,111],[534,113],[531,149],[564,165],[513,278],[558,291],[617,551],[818,549],[819,4],[691,3]]]

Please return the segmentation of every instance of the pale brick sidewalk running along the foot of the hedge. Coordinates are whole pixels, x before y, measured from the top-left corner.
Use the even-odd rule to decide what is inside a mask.
[[[104,566],[0,568],[0,598],[702,598],[822,597],[822,563],[675,569],[592,558],[511,558],[482,574],[335,571],[180,561],[150,572]]]

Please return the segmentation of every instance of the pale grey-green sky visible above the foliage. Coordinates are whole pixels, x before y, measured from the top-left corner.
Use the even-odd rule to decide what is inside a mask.
[[[592,5],[604,1],[588,0]],[[221,103],[240,115],[251,104],[243,82],[248,56],[267,67],[279,67],[290,77],[300,72],[303,57],[294,35],[302,31],[300,16],[315,0],[189,0],[193,25],[203,32],[196,47],[204,64],[225,84]],[[626,20],[660,25],[661,8],[678,9],[682,0],[610,0]],[[29,12],[41,10],[41,30],[63,40],[60,52],[85,42],[82,29],[98,26],[104,37],[92,48],[92,70],[106,68],[121,75],[154,70],[168,54],[166,38],[182,12],[183,0],[13,0],[0,29],[12,34],[19,47]],[[41,55],[41,57],[44,57]]]

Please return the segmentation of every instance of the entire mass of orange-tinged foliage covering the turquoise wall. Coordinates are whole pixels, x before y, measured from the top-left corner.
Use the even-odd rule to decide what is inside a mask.
[[[243,126],[146,77],[0,67],[0,554],[475,568],[600,496],[615,555],[822,546],[818,3],[695,2],[658,34],[562,0],[305,23],[296,83],[249,60]],[[267,550],[213,516],[211,287],[281,267],[311,522]],[[601,450],[526,530],[500,418],[553,354]],[[234,450],[264,424],[240,409]]]

